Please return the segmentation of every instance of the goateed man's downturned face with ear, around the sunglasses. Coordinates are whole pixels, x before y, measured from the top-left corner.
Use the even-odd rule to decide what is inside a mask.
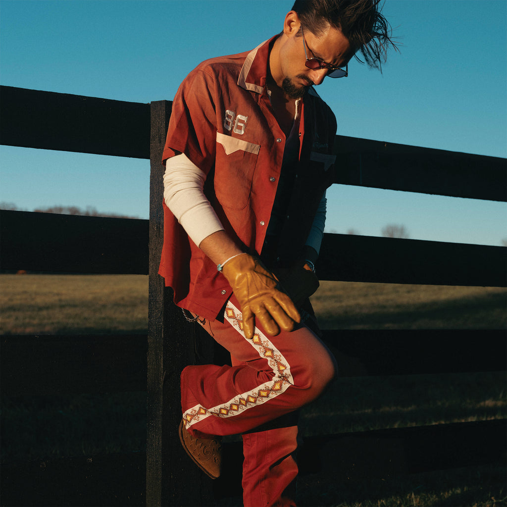
[[[306,58],[318,58],[335,67],[345,67],[354,55],[347,38],[343,33],[329,26],[323,34],[316,37],[309,30],[304,30],[306,41],[303,45],[303,37],[299,27],[297,14],[291,18],[287,14],[284,24],[284,34],[287,40],[280,51],[280,68],[282,77],[282,89],[288,97],[300,98],[312,85],[319,85],[328,74],[328,69],[310,69],[305,65]],[[299,34],[298,34],[299,32]]]

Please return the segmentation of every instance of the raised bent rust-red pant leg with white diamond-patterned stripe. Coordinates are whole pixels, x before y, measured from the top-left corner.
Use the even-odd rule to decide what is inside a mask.
[[[186,428],[213,435],[237,434],[314,400],[334,377],[333,355],[304,325],[271,337],[261,327],[247,340],[234,296],[224,322],[205,329],[232,356],[234,366],[188,366],[182,372]]]

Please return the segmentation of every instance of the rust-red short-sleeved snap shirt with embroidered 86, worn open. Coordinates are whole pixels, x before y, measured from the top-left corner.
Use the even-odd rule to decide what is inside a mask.
[[[163,160],[185,155],[207,175],[204,192],[226,232],[260,255],[282,167],[285,135],[274,117],[266,74],[276,37],[250,52],[206,60],[180,85],[172,104]],[[333,183],[336,119],[313,88],[303,98],[299,161],[278,254],[297,257],[320,199]],[[159,273],[174,302],[214,319],[232,294],[225,277],[164,206]]]

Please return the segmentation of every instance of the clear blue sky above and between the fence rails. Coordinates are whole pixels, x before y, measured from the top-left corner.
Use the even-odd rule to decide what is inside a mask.
[[[0,84],[148,103],[282,30],[291,0],[0,0]],[[400,52],[316,87],[338,134],[507,157],[507,2],[386,0]],[[149,218],[148,160],[0,147],[0,202]],[[333,185],[326,232],[501,245],[507,205]]]

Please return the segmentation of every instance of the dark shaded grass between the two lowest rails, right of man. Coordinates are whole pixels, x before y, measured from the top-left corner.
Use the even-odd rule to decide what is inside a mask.
[[[348,377],[303,407],[305,436],[507,417],[505,372]],[[322,414],[327,424],[319,423]]]

